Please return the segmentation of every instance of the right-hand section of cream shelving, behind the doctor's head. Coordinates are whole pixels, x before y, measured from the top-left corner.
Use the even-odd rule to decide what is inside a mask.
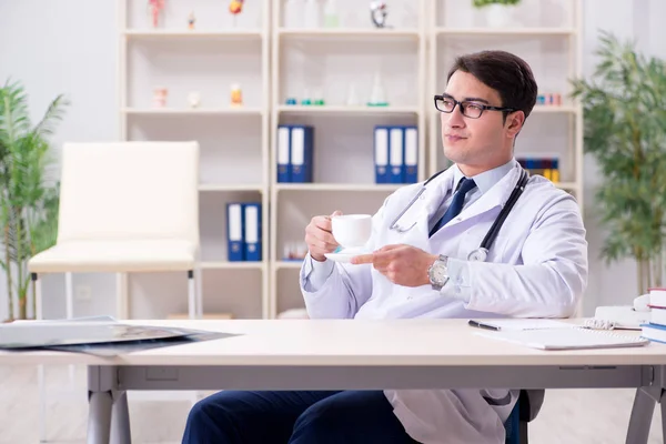
[[[559,93],[562,104],[534,108],[516,139],[515,155],[558,157],[561,182],[556,184],[575,195],[583,206],[583,109],[577,100],[568,99],[568,79],[582,73],[582,1],[547,4],[524,0],[513,8],[513,17],[508,17],[505,26],[494,27],[484,23],[492,9],[475,9],[471,1],[432,0],[431,7],[434,12],[428,23],[431,91],[444,91],[448,68],[462,52],[504,49],[524,58],[534,71],[539,93]],[[442,152],[440,112],[432,101],[428,117],[428,172],[434,174],[448,162]]]

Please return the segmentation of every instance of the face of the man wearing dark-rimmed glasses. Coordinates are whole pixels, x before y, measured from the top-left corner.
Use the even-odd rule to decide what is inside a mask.
[[[443,95],[457,101],[493,107],[506,105],[502,103],[497,91],[463,71],[456,71],[451,77]],[[472,119],[462,114],[460,104],[451,113],[442,112],[444,155],[475,172],[507,162],[513,150],[513,137],[517,133],[513,127],[517,122],[512,118],[513,114],[503,122],[502,114],[501,111],[484,110],[480,118]]]

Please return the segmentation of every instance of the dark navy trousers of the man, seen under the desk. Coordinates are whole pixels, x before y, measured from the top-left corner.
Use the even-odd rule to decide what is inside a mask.
[[[413,444],[381,391],[236,392],[192,407],[183,444]]]

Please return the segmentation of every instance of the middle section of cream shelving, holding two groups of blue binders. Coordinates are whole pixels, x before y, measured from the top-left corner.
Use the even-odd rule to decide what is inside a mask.
[[[285,245],[302,241],[313,215],[334,210],[374,212],[400,185],[374,183],[373,129],[377,124],[411,124],[418,129],[418,178],[425,165],[426,92],[425,7],[427,0],[391,2],[389,22],[379,29],[367,6],[336,0],[342,19],[335,28],[287,28],[285,3],[276,0],[272,20],[272,164],[281,124],[314,127],[312,183],[279,183],[271,172],[271,309],[270,317],[303,306],[300,261],[284,261]],[[397,20],[395,11],[407,11]],[[398,22],[396,22],[396,20]],[[306,24],[306,23],[305,23]],[[300,63],[300,64],[297,64]],[[381,72],[389,107],[365,104],[372,78]],[[347,105],[346,88],[355,83],[360,103]],[[286,104],[324,90],[324,105]],[[314,99],[315,97],[313,97]],[[337,141],[337,142],[336,142]]]

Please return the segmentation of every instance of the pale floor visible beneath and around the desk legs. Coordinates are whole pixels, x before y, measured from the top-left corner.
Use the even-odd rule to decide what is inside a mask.
[[[52,367],[47,372],[49,392],[49,442],[85,442],[85,373],[74,367]],[[70,385],[70,381],[72,384]],[[56,393],[61,390],[61,394]],[[39,442],[38,384],[34,367],[0,366],[0,443]],[[162,398],[167,397],[160,394]],[[552,390],[544,407],[531,425],[534,444],[620,444],[625,433],[634,391],[630,390]],[[182,396],[181,396],[182,398]],[[133,443],[179,443],[191,401],[150,401],[130,397]],[[649,444],[663,443],[658,406]],[[158,426],[158,424],[160,424]]]

